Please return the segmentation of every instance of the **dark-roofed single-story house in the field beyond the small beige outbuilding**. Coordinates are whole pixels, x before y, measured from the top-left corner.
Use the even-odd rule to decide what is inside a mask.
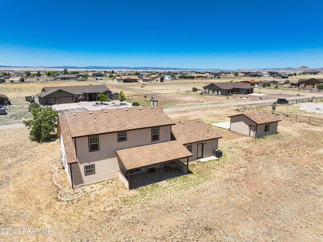
[[[253,86],[249,86],[247,83],[242,82],[219,82],[210,83],[203,86],[206,94],[213,95],[228,95],[229,93],[234,94],[250,94],[253,93]]]

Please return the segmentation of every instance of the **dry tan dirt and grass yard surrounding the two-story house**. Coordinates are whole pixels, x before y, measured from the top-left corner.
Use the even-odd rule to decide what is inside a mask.
[[[235,113],[223,107],[168,115],[214,123]],[[0,227],[55,233],[0,240],[322,241],[321,126],[283,120],[278,134],[258,139],[216,129],[221,159],[193,162],[189,175],[130,191],[118,179],[72,190],[59,140],[39,144],[27,128],[1,130]],[[49,162],[63,198],[85,195],[59,200]]]

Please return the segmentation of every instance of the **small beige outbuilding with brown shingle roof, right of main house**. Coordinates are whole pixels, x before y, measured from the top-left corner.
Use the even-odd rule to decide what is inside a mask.
[[[231,131],[253,138],[277,133],[278,122],[282,121],[268,112],[243,113],[229,117]]]

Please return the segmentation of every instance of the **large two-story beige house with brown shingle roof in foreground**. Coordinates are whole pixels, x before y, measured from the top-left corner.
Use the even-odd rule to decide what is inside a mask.
[[[221,138],[202,120],[175,122],[159,106],[60,113],[58,137],[72,188],[120,178],[128,189],[148,170],[152,182],[187,174],[189,161],[212,156]],[[161,169],[172,161],[177,173]]]

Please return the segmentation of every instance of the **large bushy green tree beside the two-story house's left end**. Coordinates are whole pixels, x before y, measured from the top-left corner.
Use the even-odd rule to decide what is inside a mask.
[[[51,139],[57,127],[58,111],[52,107],[34,108],[31,110],[32,119],[23,121],[30,129],[30,136],[37,142],[45,142]]]

